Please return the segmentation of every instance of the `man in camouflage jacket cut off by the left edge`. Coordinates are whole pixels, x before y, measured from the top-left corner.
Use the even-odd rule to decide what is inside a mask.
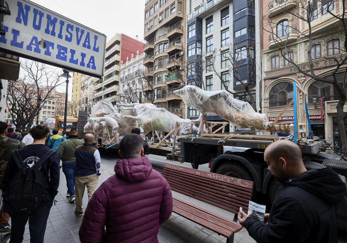
[[[3,191],[2,179],[5,169],[11,157],[11,152],[22,147],[20,141],[11,139],[7,135],[7,123],[0,121],[0,189]],[[0,233],[10,232],[11,226],[8,221],[10,215],[3,211],[3,205],[0,211]]]

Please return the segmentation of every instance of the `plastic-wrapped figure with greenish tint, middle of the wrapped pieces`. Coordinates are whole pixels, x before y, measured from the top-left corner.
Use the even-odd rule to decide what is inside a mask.
[[[190,119],[180,118],[164,108],[155,107],[153,104],[127,104],[124,106],[125,107],[122,111],[126,112],[127,110],[130,110],[133,111],[134,115],[124,115],[123,117],[125,119],[138,120],[145,131],[170,132],[175,128],[176,121],[191,122]],[[188,133],[190,126],[190,124],[181,124],[177,133]]]

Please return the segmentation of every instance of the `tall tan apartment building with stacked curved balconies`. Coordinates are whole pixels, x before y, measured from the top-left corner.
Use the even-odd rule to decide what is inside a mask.
[[[186,1],[147,0],[144,13],[146,84],[142,101],[184,117],[182,99],[173,91],[186,80]]]

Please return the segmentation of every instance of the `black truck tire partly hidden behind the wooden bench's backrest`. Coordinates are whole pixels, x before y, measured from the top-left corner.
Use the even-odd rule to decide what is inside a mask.
[[[233,164],[233,163],[222,164],[221,166],[218,167],[216,173],[247,180],[247,181],[253,181],[253,178],[251,177],[251,175],[249,175],[249,173],[242,166]],[[255,197],[256,197],[256,190],[253,184],[251,200],[254,200]]]

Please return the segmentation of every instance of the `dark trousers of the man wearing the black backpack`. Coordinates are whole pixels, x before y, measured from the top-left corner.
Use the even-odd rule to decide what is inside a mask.
[[[26,222],[29,219],[29,232],[31,243],[43,243],[46,232],[47,219],[53,205],[51,195],[45,191],[40,205],[30,212],[11,214],[10,243],[23,241]]]

